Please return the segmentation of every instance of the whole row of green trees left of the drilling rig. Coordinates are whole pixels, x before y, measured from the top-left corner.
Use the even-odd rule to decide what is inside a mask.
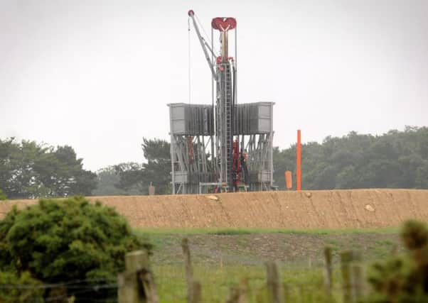
[[[83,169],[69,146],[0,139],[0,199],[34,199],[75,195],[148,194],[170,191],[169,143],[143,138],[144,163],[125,162],[97,172]]]

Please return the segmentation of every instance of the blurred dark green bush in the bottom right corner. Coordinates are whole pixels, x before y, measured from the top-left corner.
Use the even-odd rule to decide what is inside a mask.
[[[373,265],[368,279],[373,291],[365,302],[428,302],[428,228],[407,221],[401,238],[407,253]]]

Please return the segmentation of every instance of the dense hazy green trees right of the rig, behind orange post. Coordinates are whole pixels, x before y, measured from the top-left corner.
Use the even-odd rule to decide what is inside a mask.
[[[407,126],[382,136],[351,132],[342,138],[302,145],[304,189],[428,188],[428,128]],[[274,180],[284,188],[284,171],[295,176],[296,145],[274,149]]]

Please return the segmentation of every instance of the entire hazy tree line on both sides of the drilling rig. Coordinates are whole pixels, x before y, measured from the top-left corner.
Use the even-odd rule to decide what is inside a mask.
[[[97,173],[84,170],[68,145],[0,140],[0,189],[10,199],[70,195],[171,193],[170,143],[143,138],[145,162],[124,162]],[[428,128],[407,126],[381,136],[326,137],[301,147],[303,189],[428,189]],[[274,148],[274,182],[285,188],[284,172],[296,171],[296,145]],[[294,180],[295,181],[295,180]],[[295,185],[296,182],[294,182]]]

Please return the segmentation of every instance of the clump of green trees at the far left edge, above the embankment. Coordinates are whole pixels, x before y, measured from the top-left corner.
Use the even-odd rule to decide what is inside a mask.
[[[97,176],[82,166],[68,145],[0,140],[0,186],[11,199],[90,194]]]

